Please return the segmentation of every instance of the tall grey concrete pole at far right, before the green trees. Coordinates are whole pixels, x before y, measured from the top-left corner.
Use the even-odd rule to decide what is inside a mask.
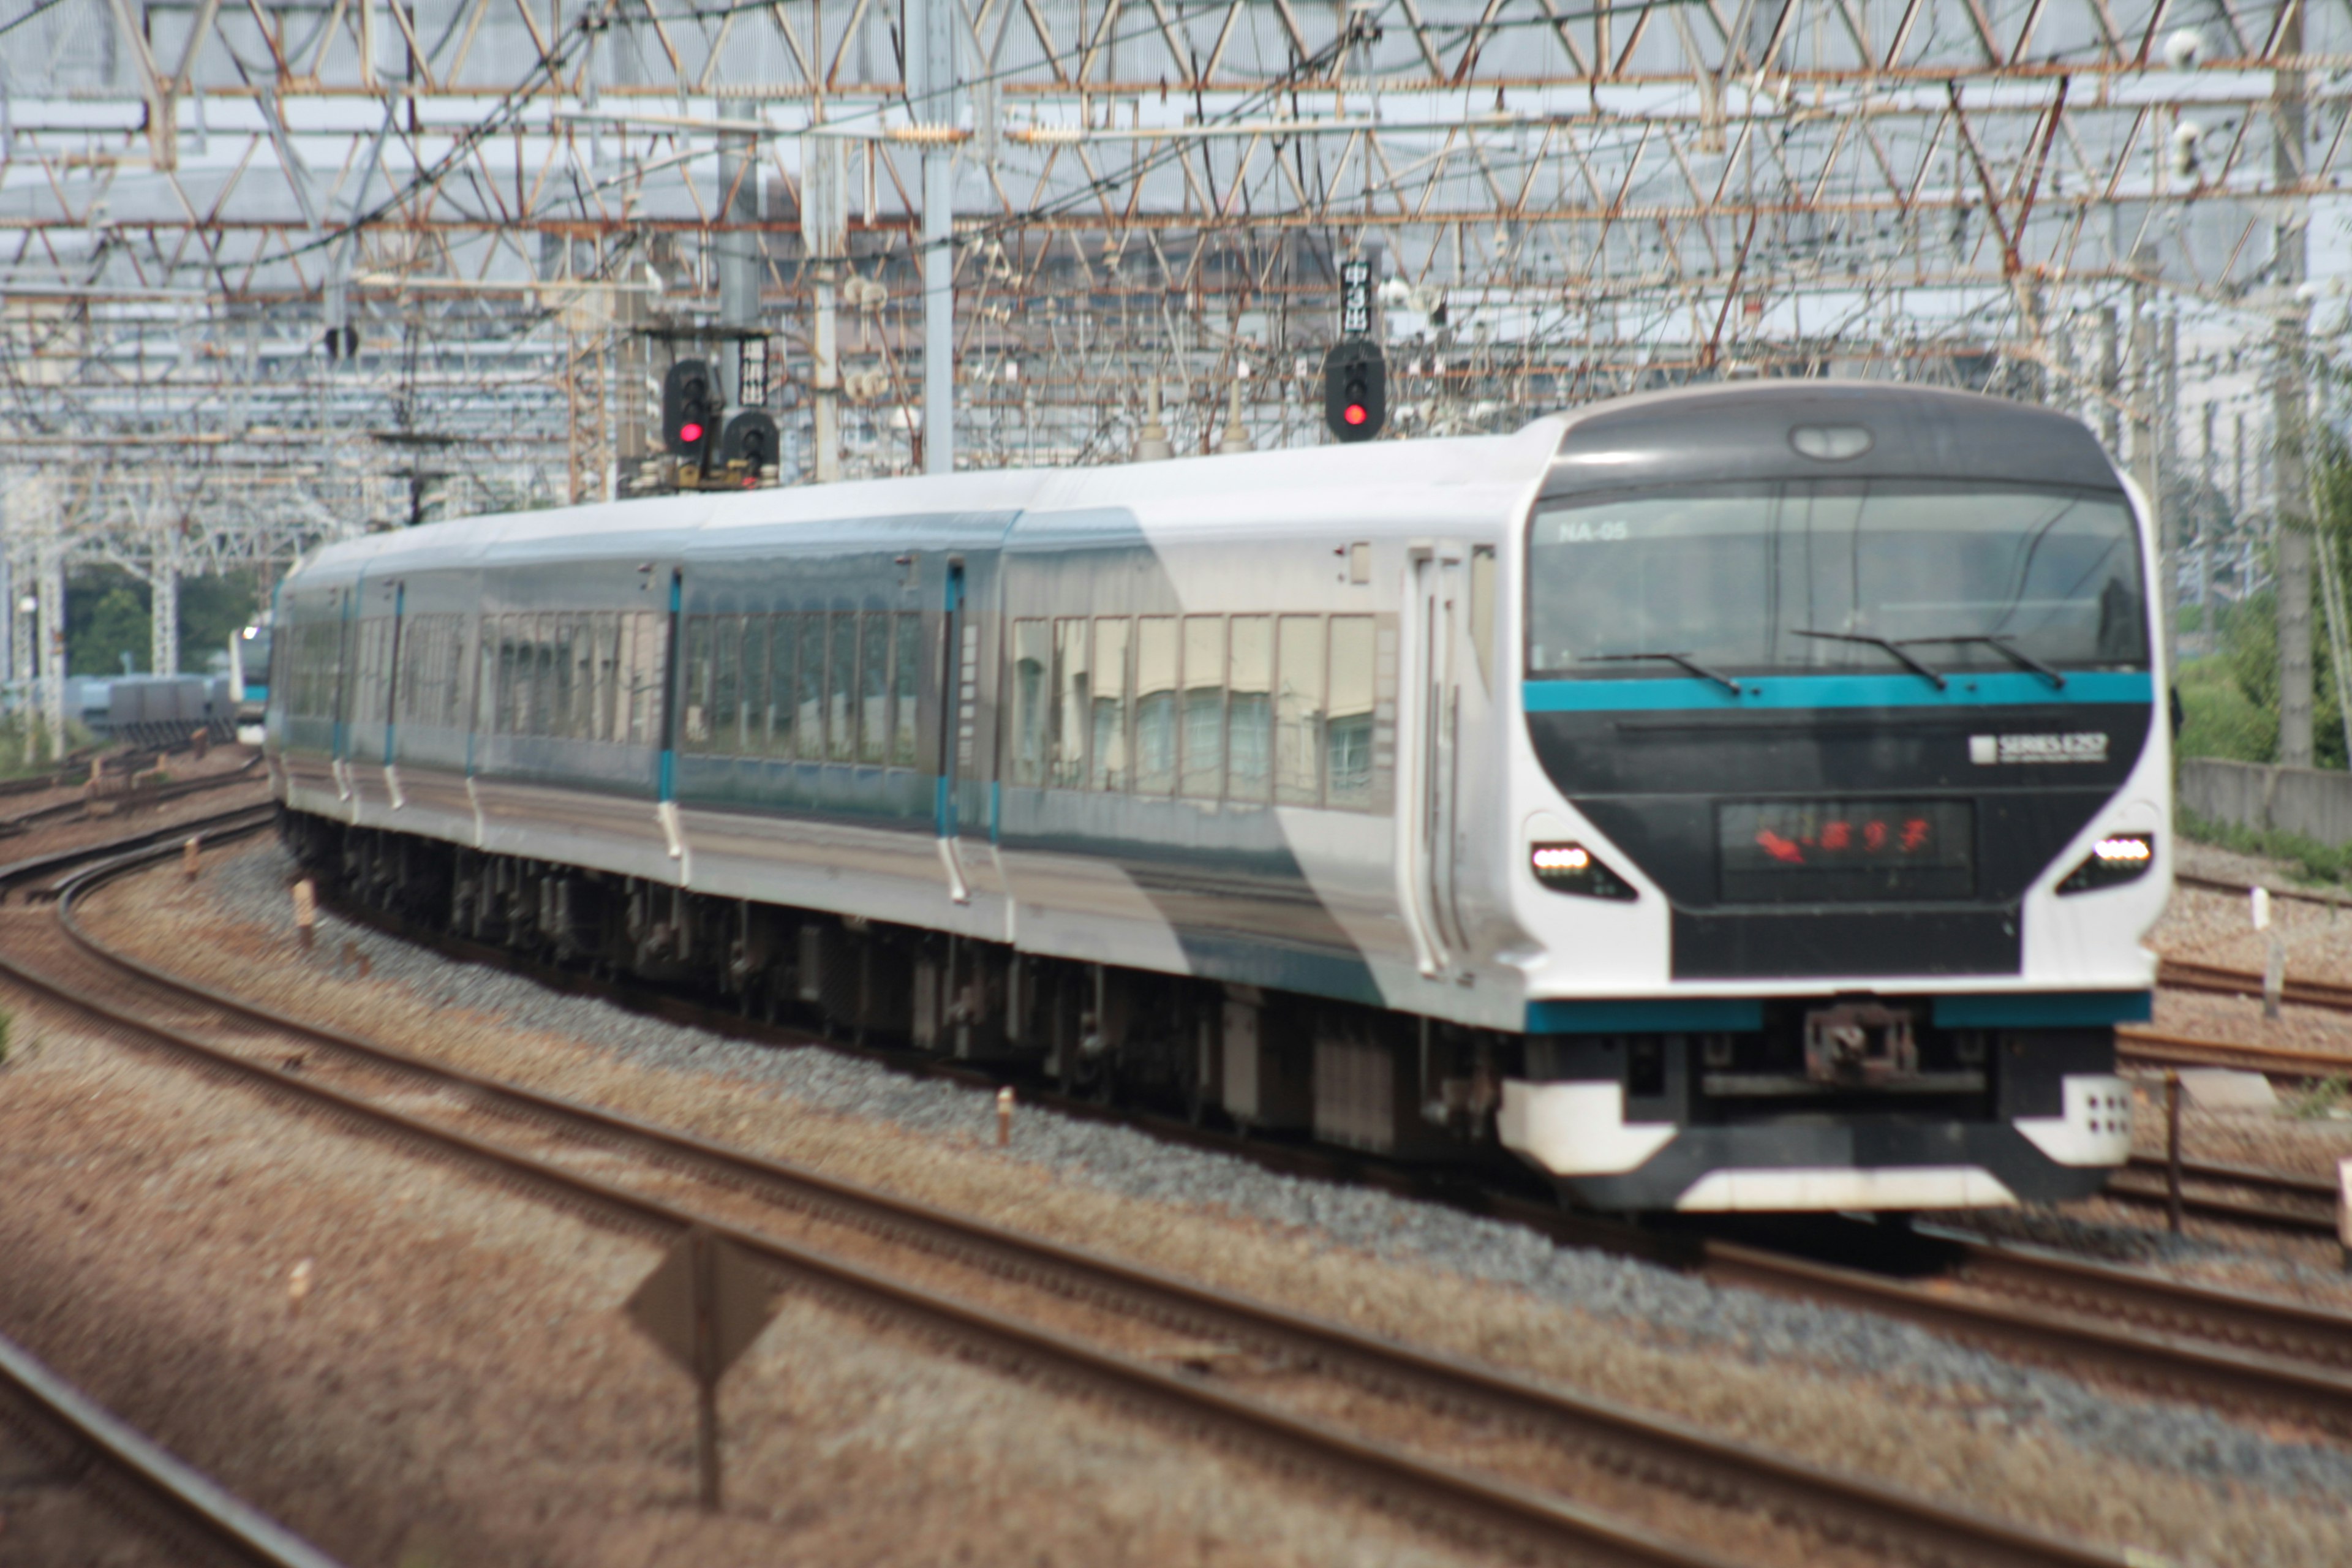
[[[2303,12],[2288,9],[2279,24],[2279,54],[2303,54]],[[2303,110],[2300,71],[2272,78],[2272,181],[2279,190],[2303,183]],[[2272,230],[2272,284],[2279,292],[2277,371],[2272,381],[2272,473],[2277,484],[2279,552],[2279,762],[2312,766],[2312,501],[2310,470],[2303,451],[2305,383],[2303,336],[2305,303],[2298,289],[2305,277],[2305,230],[2310,205],[2281,197],[2279,223]]]

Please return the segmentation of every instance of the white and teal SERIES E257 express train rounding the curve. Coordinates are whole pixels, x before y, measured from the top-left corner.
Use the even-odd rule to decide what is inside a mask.
[[[358,896],[748,1011],[1611,1211],[2046,1201],[2129,1150],[2154,581],[2072,418],[1743,383],[379,534],[268,750]]]

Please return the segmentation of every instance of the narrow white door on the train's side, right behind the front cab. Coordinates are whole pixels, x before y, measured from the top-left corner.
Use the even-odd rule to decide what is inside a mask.
[[[1463,950],[1456,898],[1461,813],[1463,548],[1416,545],[1406,595],[1406,696],[1399,745],[1397,867],[1421,973],[1437,976]]]

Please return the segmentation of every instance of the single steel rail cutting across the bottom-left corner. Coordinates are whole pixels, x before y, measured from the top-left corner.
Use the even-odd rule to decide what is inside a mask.
[[[172,1561],[336,1568],[332,1556],[167,1453],[9,1338],[0,1338],[0,1420],[59,1474],[96,1488],[113,1505],[108,1514],[129,1514],[141,1533],[155,1535]]]

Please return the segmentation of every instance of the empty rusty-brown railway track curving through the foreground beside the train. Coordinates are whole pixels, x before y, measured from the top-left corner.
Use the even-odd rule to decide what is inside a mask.
[[[226,820],[212,832],[252,830]],[[524,1190],[652,1234],[703,1225],[800,1291],[889,1316],[1185,1429],[1334,1476],[1409,1514],[1548,1556],[1717,1563],[1571,1502],[1632,1495],[1677,1521],[1731,1509],[1846,1552],[1936,1563],[2091,1566],[2107,1552],[1715,1439],[1604,1401],[1065,1248],[609,1110],[503,1084],[176,980],[75,917],[92,886],[155,849],[64,882],[52,922],[7,910],[0,959],[118,1032]],[[52,877],[40,865],[31,879]],[[9,872],[0,872],[7,884]],[[395,1105],[397,1100],[397,1105]],[[492,1135],[496,1128],[496,1135]],[[1176,1345],[1169,1338],[1176,1335]],[[1442,1453],[1430,1453],[1432,1448]],[[1458,1453],[1475,1455],[1475,1465]],[[1743,1533],[1745,1530],[1745,1533]],[[1828,1556],[1820,1556],[1820,1554]]]

